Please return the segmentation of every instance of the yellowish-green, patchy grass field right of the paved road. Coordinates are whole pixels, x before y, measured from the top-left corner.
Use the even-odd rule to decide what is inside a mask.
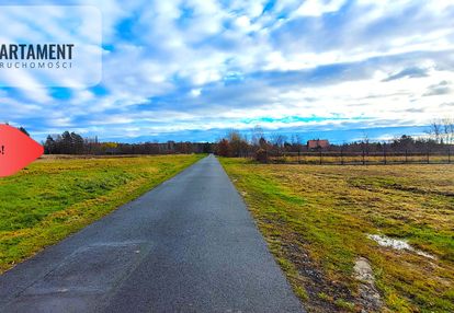
[[[454,312],[453,165],[222,163],[309,312]]]

